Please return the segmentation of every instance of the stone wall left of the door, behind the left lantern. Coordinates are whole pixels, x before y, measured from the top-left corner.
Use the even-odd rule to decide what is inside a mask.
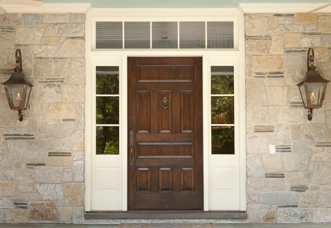
[[[85,14],[3,14],[0,30],[0,82],[20,48],[34,85],[19,122],[0,84],[0,223],[81,223]]]

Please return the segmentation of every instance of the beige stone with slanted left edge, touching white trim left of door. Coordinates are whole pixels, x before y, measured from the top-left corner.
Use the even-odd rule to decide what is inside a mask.
[[[85,41],[84,40],[65,40],[55,56],[66,57],[80,57],[85,55]]]

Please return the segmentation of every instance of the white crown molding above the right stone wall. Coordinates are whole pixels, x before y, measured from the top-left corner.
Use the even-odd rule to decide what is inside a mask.
[[[237,10],[242,15],[245,13],[307,13],[324,5],[326,3],[240,3]],[[317,12],[331,12],[331,7]]]

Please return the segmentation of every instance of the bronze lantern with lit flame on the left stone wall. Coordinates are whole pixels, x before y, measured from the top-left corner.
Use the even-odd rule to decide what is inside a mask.
[[[19,56],[18,56],[19,54]],[[8,81],[3,82],[7,94],[9,106],[12,110],[19,111],[19,120],[23,121],[21,110],[27,110],[32,84],[27,82],[24,73],[22,72],[22,54],[21,50],[17,49],[16,54],[16,67],[14,73]]]

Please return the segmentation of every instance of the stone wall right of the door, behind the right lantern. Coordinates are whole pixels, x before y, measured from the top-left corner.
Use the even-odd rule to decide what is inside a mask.
[[[331,80],[331,15],[246,14],[245,25],[248,221],[331,222],[331,85],[312,121],[296,86],[309,47]]]

